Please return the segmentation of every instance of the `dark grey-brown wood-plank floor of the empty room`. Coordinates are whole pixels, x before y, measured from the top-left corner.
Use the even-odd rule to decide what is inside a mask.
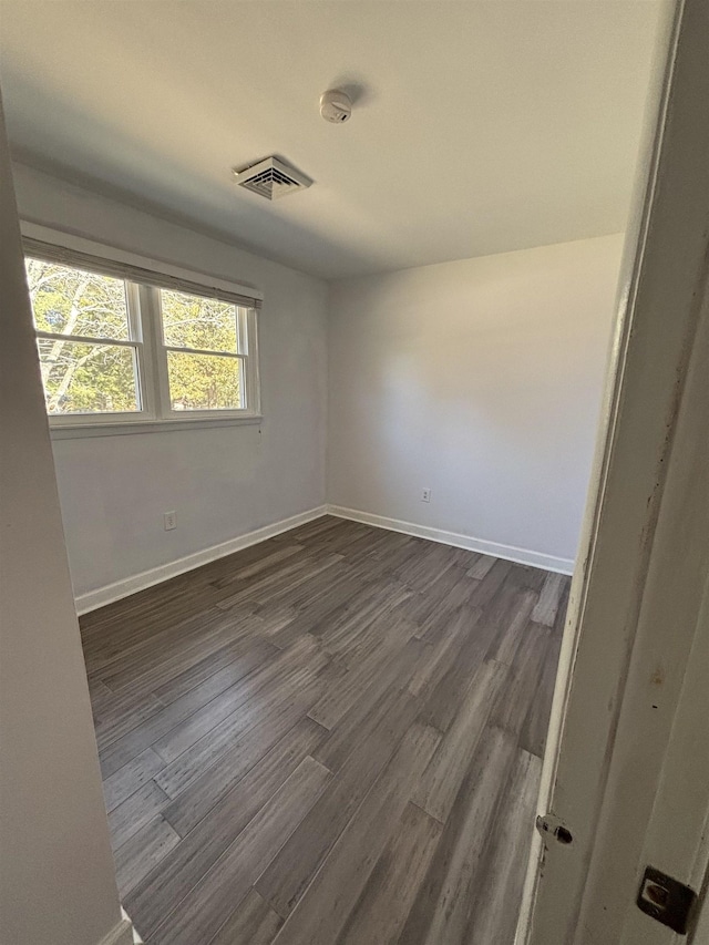
[[[82,618],[150,945],[511,945],[568,578],[331,517]]]

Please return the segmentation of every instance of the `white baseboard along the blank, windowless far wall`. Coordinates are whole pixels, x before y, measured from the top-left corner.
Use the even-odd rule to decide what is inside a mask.
[[[505,561],[513,561],[516,564],[528,564],[533,567],[541,567],[544,571],[555,571],[559,574],[574,573],[574,562],[572,558],[555,557],[543,552],[532,552],[527,548],[516,548],[514,545],[501,545],[497,542],[473,538],[471,535],[459,535],[455,532],[430,528],[428,525],[415,525],[413,522],[400,522],[399,518],[387,518],[383,515],[372,515],[370,512],[343,509],[341,505],[328,505],[327,513],[328,515],[336,515],[338,518],[349,518],[352,522],[361,522],[363,525],[388,528],[390,532],[402,532],[404,535],[414,535],[418,538],[428,538],[430,542],[440,542],[443,545],[466,548],[469,552],[505,558]]]

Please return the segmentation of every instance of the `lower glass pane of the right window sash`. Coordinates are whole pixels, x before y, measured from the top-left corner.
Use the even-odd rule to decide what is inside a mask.
[[[242,361],[218,355],[167,352],[173,410],[238,410]]]

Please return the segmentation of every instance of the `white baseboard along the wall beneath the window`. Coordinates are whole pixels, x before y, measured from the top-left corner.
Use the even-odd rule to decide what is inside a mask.
[[[319,505],[317,509],[310,509],[308,512],[291,515],[290,518],[281,518],[280,522],[274,522],[273,525],[265,525],[263,528],[247,532],[237,538],[230,538],[228,542],[223,542],[219,545],[213,545],[209,548],[185,555],[185,557],[177,558],[177,561],[169,562],[168,564],[162,564],[150,568],[150,571],[143,571],[140,574],[126,577],[123,581],[116,581],[114,584],[106,584],[104,587],[99,587],[95,590],[79,594],[75,598],[76,613],[86,614],[89,610],[95,610],[97,607],[105,607],[106,604],[112,604],[122,597],[127,597],[138,590],[145,590],[146,587],[153,587],[155,584],[161,584],[171,577],[177,577],[178,574],[193,571],[195,567],[201,567],[203,564],[208,564],[217,558],[233,555],[235,552],[240,552],[242,548],[247,548],[249,545],[255,545],[258,542],[265,542],[266,538],[273,538],[274,535],[280,535],[281,532],[288,532],[290,528],[305,525],[306,522],[311,522],[314,518],[319,518],[326,514],[327,505]]]

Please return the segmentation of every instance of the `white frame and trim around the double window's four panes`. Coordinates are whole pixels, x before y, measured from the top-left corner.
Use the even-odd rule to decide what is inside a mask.
[[[43,243],[53,250],[62,250],[61,263],[76,266],[99,274],[102,261],[111,264],[105,275],[116,277],[115,267],[138,268],[151,274],[151,284],[132,281],[124,278],[129,304],[130,339],[114,340],[102,338],[80,338],[62,336],[55,332],[37,331],[38,338],[60,338],[63,340],[85,340],[90,343],[116,345],[130,347],[135,351],[136,386],[141,404],[140,411],[122,413],[81,413],[48,414],[53,439],[74,436],[103,436],[110,434],[145,433],[151,431],[184,430],[191,427],[224,427],[256,424],[263,420],[260,411],[260,374],[258,366],[258,309],[261,294],[250,286],[226,281],[204,273],[183,269],[161,260],[148,259],[134,253],[110,248],[103,244],[84,239],[49,227],[22,223],[22,235],[32,243]],[[25,247],[30,257],[41,258],[32,244]],[[72,261],[72,253],[76,258]],[[90,266],[85,257],[93,257]],[[162,278],[164,277],[164,284]],[[160,311],[161,286],[165,289],[189,292],[189,289],[176,287],[174,280],[187,284],[194,295],[205,298],[219,298],[225,294],[240,298],[234,301],[237,307],[237,351],[198,351],[182,346],[165,345],[163,339],[162,315]],[[230,301],[229,298],[227,298]],[[253,302],[253,304],[248,304]],[[242,400],[238,409],[189,410],[172,409],[167,374],[167,352],[203,353],[213,357],[233,357],[242,364]]]

